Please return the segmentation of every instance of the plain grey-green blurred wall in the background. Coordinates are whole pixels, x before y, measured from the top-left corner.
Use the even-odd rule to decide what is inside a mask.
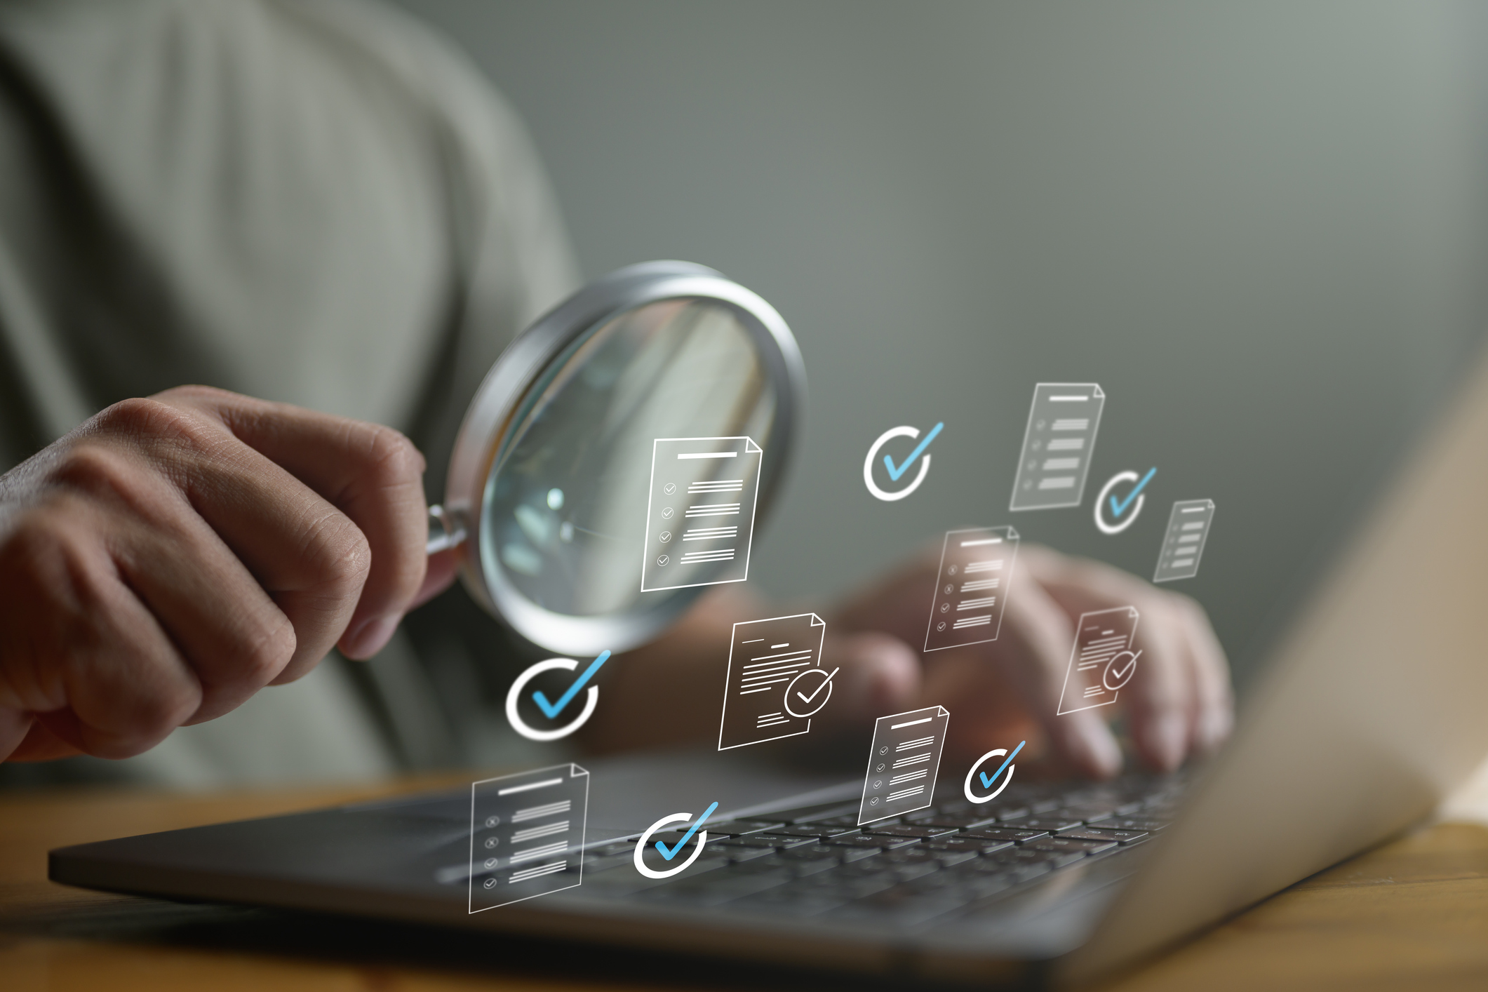
[[[826,605],[955,525],[1199,579],[1237,663],[1475,350],[1488,88],[1452,3],[405,0],[527,119],[583,269],[713,265],[811,412],[751,580]],[[1007,513],[1033,384],[1109,396],[1085,507]],[[903,503],[868,445],[945,421]],[[1089,506],[1156,466],[1143,519]],[[1408,580],[1408,570],[1403,571]]]

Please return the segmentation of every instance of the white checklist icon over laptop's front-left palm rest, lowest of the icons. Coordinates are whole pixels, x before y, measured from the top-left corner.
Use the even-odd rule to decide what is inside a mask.
[[[589,772],[555,764],[470,785],[470,903],[479,913],[583,882]]]

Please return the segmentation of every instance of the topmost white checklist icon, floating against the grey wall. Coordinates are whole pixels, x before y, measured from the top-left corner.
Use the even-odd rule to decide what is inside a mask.
[[[1106,394],[1094,382],[1040,382],[1024,430],[1013,510],[1080,506]]]

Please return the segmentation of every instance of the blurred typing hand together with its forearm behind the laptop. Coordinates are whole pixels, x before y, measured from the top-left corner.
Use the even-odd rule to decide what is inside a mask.
[[[927,553],[824,614],[821,665],[841,671],[812,733],[870,727],[878,717],[939,703],[951,711],[948,754],[1030,739],[1030,757],[1042,753],[1051,764],[1092,778],[1115,775],[1122,759],[1106,720],[1116,706],[1062,717],[1056,709],[1080,613],[1131,605],[1141,614],[1141,660],[1120,709],[1141,757],[1168,770],[1229,735],[1229,668],[1193,599],[1025,544],[998,638],[924,653],[936,571],[937,558]],[[615,750],[716,733],[732,625],[799,611],[772,613],[735,586],[714,590],[667,637],[616,659],[586,741]]]

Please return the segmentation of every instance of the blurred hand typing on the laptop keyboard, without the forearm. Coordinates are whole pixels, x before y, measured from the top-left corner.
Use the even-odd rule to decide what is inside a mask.
[[[937,568],[937,558],[926,555],[853,596],[827,619],[842,641],[838,656],[823,663],[844,665],[844,674],[851,666],[859,680],[891,689],[899,709],[945,705],[952,711],[949,750],[975,756],[1012,747],[1000,744],[1012,738],[1043,738],[1048,757],[1106,778],[1122,764],[1106,723],[1113,709],[1123,711],[1138,754],[1158,770],[1229,736],[1229,665],[1204,608],[1189,596],[1101,562],[1024,544],[997,640],[921,653],[911,645],[924,644]],[[1056,715],[1076,620],[1112,607],[1141,614],[1135,675],[1117,706]],[[873,715],[887,712],[893,709]]]

